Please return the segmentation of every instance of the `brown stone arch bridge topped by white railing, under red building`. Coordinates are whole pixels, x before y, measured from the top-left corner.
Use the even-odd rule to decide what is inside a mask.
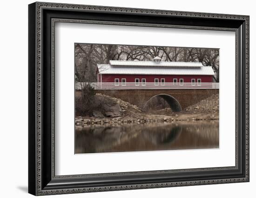
[[[142,109],[150,99],[159,96],[169,104],[174,112],[179,112],[202,99],[219,93],[219,83],[183,83],[182,85],[174,83],[164,85],[92,83],[90,85],[94,87],[96,93],[127,101]],[[76,85],[76,96],[81,95],[81,87],[80,84]]]

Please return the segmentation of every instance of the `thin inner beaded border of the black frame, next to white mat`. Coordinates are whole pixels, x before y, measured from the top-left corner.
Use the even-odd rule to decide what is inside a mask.
[[[101,25],[121,25],[121,26],[150,26],[150,27],[165,27],[165,28],[179,28],[179,29],[204,29],[204,27],[194,27],[194,26],[173,26],[173,25],[159,25],[159,24],[143,24],[143,23],[126,23],[126,22],[109,22],[109,21],[94,21],[94,20],[69,20],[69,19],[52,19],[52,161],[55,160],[55,153],[54,153],[54,106],[55,106],[55,86],[54,86],[54,75],[55,75],[55,61],[54,61],[54,54],[55,54],[55,23],[84,23],[84,24],[101,24]],[[236,34],[236,44],[237,44],[237,30],[234,28],[212,28],[208,27],[205,28],[207,30],[219,30],[219,31],[234,31]],[[236,50],[237,56],[237,50]],[[237,71],[237,61],[236,61],[236,78],[238,75]],[[237,94],[237,84],[236,84],[236,94]],[[236,104],[237,104],[237,97],[236,97]],[[237,114],[237,112],[236,112]],[[237,119],[236,115],[236,119]],[[235,166],[226,166],[226,167],[214,167],[214,168],[193,168],[193,169],[175,169],[175,170],[164,170],[164,171],[141,171],[141,172],[115,172],[115,173],[100,173],[100,174],[79,174],[79,175],[63,175],[63,176],[55,176],[55,163],[52,163],[52,178],[81,178],[81,177],[99,177],[99,176],[114,176],[114,175],[132,175],[132,174],[150,174],[150,173],[163,173],[163,172],[188,172],[188,171],[213,171],[213,170],[229,170],[229,169],[237,169],[237,160],[238,160],[238,147],[237,147],[237,128],[236,128],[236,165]]]

